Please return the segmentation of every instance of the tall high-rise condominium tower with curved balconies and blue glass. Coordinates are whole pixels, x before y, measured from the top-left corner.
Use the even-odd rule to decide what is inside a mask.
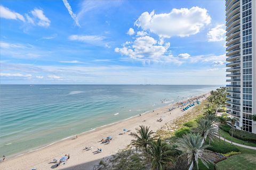
[[[226,0],[227,113],[256,133],[256,0]]]

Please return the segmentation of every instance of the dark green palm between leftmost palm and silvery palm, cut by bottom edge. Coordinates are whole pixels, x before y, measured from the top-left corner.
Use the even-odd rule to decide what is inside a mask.
[[[151,169],[162,170],[163,165],[167,162],[173,162],[170,156],[171,150],[168,149],[168,144],[160,138],[157,141],[150,143],[149,158],[151,159]]]

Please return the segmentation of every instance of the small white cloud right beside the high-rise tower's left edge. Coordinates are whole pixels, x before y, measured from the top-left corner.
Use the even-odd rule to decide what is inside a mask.
[[[225,40],[225,25],[224,24],[219,24],[216,27],[212,28],[208,33],[207,33],[207,38],[209,42],[214,42],[214,41],[223,41]]]

